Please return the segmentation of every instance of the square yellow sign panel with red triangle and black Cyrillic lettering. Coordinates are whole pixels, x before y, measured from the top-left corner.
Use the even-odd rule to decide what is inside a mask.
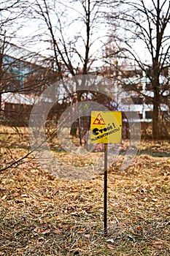
[[[120,111],[92,111],[90,143],[121,143],[122,113]]]

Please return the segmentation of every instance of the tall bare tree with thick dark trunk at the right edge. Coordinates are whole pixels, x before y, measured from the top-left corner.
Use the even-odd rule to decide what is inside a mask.
[[[150,79],[152,96],[142,95],[152,102],[152,138],[157,140],[161,138],[161,104],[169,102],[170,97],[167,71],[170,67],[170,3],[168,0],[125,0],[117,11],[114,25],[121,34],[121,38],[113,37],[117,57],[137,64]],[[109,15],[111,24],[114,12]]]

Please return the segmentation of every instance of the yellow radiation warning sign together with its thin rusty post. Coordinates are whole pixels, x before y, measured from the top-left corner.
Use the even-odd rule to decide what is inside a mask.
[[[120,111],[92,111],[90,143],[104,143],[104,236],[107,236],[107,146],[121,143],[122,114]]]

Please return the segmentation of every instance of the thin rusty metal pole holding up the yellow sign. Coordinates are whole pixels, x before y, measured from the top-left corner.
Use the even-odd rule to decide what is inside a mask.
[[[104,144],[104,236],[107,236],[107,143]]]

